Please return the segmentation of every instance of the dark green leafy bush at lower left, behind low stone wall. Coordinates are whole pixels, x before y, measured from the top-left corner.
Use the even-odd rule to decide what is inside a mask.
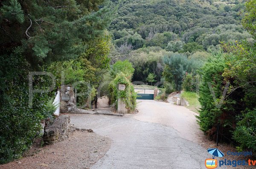
[[[41,120],[49,117],[46,94],[34,94],[33,109],[29,108],[28,89],[19,87],[1,95],[0,105],[0,163],[21,158],[41,130]],[[52,103],[52,102],[51,102]]]

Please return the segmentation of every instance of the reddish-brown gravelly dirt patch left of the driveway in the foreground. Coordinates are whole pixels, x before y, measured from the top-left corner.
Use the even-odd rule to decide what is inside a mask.
[[[67,140],[30,151],[32,156],[0,165],[0,169],[89,169],[110,146],[107,137],[76,131]]]

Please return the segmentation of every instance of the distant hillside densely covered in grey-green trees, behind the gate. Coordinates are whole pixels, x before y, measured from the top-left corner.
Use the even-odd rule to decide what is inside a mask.
[[[239,24],[243,6],[241,0],[125,0],[110,30],[117,46],[127,42],[134,49],[164,49],[170,41],[181,40],[197,42],[207,50],[218,45],[219,40],[251,37]]]

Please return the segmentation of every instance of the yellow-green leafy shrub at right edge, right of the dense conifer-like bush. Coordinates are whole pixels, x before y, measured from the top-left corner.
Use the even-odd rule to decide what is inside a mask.
[[[242,111],[236,119],[233,139],[239,143],[238,149],[256,151],[256,49],[248,43],[239,42],[223,44],[223,49],[228,60],[223,77],[234,82],[229,87],[229,95],[239,100],[235,107]]]

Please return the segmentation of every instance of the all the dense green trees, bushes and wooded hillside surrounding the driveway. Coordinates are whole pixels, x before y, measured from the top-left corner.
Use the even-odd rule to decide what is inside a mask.
[[[77,102],[85,108],[121,96],[132,112],[131,81],[161,81],[163,99],[197,92],[201,130],[215,140],[219,125],[221,141],[255,152],[255,32],[256,0],[0,1],[0,163],[20,158],[40,137],[41,120],[53,118],[61,72],[65,84],[82,82]],[[34,93],[30,108],[32,71],[51,72],[56,87]],[[50,84],[33,77],[33,89]]]

